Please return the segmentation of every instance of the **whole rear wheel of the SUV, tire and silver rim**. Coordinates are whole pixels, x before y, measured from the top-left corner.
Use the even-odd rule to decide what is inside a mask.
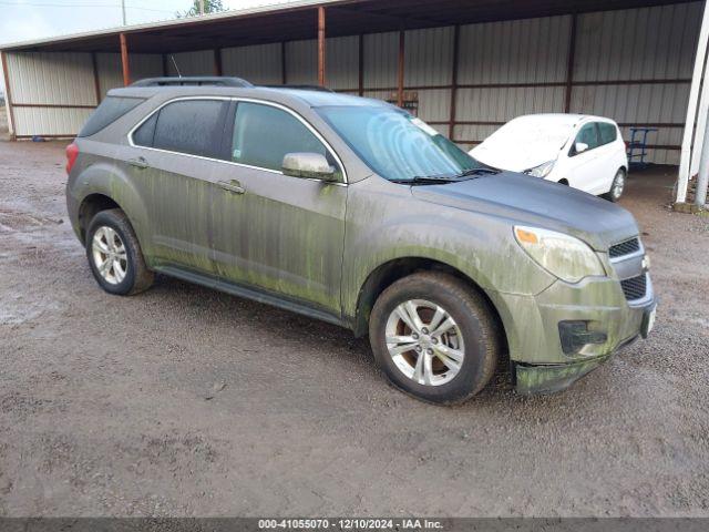
[[[153,284],[133,227],[119,208],[101,211],[89,224],[86,257],[96,282],[110,294],[137,294]]]

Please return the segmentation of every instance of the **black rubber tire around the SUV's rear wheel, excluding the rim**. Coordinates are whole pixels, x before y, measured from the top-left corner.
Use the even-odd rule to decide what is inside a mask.
[[[99,272],[99,266],[94,259],[93,239],[96,231],[102,227],[113,229],[125,247],[125,277],[120,283],[110,283],[106,280]],[[93,217],[89,224],[89,231],[86,232],[85,245],[86,258],[89,259],[91,273],[101,288],[109,294],[131,296],[148,289],[153,284],[154,274],[147,269],[147,266],[145,266],[143,252],[141,250],[141,245],[137,242],[135,232],[133,231],[127,216],[120,208],[101,211]]]

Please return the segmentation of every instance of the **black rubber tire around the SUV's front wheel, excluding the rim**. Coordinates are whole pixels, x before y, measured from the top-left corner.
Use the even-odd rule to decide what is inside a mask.
[[[402,303],[424,299],[443,307],[455,320],[464,340],[458,374],[439,386],[422,385],[397,367],[387,347],[387,321]],[[377,299],[369,320],[369,338],[377,364],[399,389],[429,402],[463,402],[480,392],[495,372],[501,351],[501,329],[489,303],[471,286],[451,275],[425,272],[404,277]]]

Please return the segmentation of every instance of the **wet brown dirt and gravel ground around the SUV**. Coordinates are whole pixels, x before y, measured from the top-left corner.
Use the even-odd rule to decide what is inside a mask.
[[[0,515],[709,515],[709,218],[633,175],[657,328],[552,397],[390,388],[347,330],[169,278],[101,291],[63,146],[0,143]]]

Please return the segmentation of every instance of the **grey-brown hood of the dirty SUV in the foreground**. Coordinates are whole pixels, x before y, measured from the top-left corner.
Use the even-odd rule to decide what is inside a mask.
[[[633,215],[585,192],[512,172],[412,187],[414,197],[576,236],[594,249],[638,235]]]

